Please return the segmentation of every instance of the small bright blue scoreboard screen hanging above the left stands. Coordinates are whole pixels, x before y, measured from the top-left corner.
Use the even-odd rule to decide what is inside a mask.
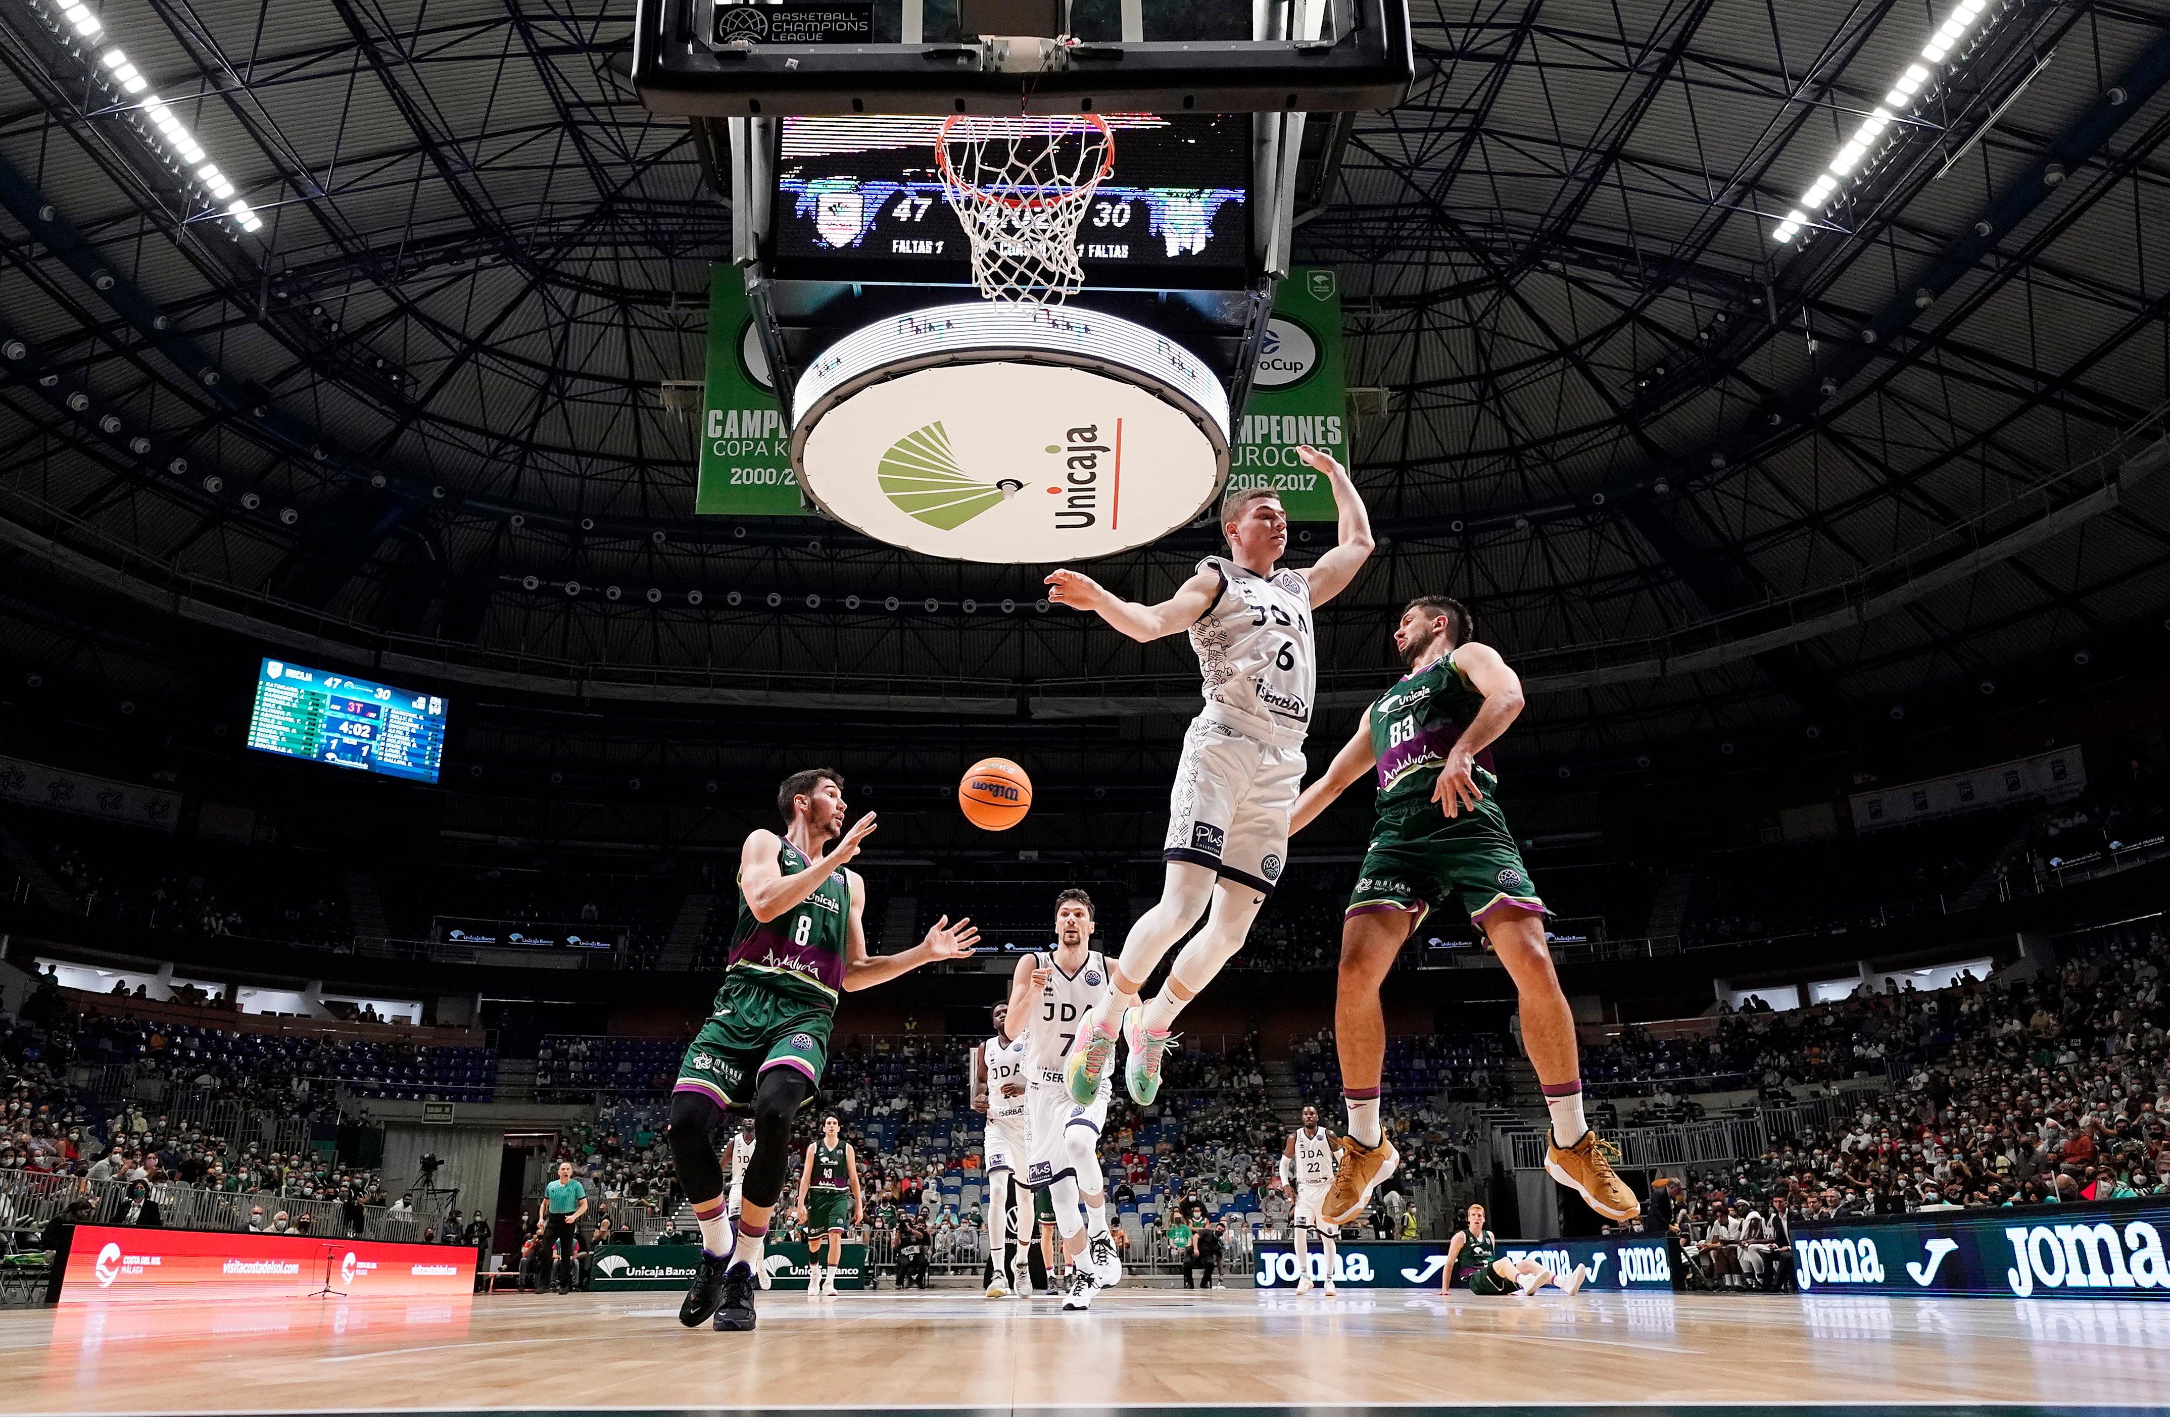
[[[256,668],[250,746],[434,783],[445,755],[445,701],[328,668],[265,660]]]

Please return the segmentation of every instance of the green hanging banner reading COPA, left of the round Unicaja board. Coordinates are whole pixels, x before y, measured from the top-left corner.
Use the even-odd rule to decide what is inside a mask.
[[[707,269],[707,391],[701,399],[699,516],[801,516],[792,430],[746,304],[746,273]]]

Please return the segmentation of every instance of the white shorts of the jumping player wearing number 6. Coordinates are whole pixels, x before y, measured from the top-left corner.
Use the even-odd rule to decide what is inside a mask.
[[[1302,786],[1300,742],[1265,742],[1215,718],[1194,718],[1167,794],[1161,859],[1204,866],[1272,894],[1289,861],[1289,812]]]

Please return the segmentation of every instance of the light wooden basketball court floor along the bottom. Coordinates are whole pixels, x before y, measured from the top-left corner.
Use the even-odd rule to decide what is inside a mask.
[[[11,1413],[2157,1406],[2170,1304],[972,1291],[117,1304],[0,1313]]]

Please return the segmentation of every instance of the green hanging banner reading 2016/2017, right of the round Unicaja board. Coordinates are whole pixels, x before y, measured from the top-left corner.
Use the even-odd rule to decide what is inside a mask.
[[[1228,490],[1280,493],[1289,521],[1339,521],[1326,477],[1295,458],[1309,443],[1350,462],[1348,367],[1341,352],[1341,280],[1300,265],[1274,291],[1250,404],[1228,438]]]

